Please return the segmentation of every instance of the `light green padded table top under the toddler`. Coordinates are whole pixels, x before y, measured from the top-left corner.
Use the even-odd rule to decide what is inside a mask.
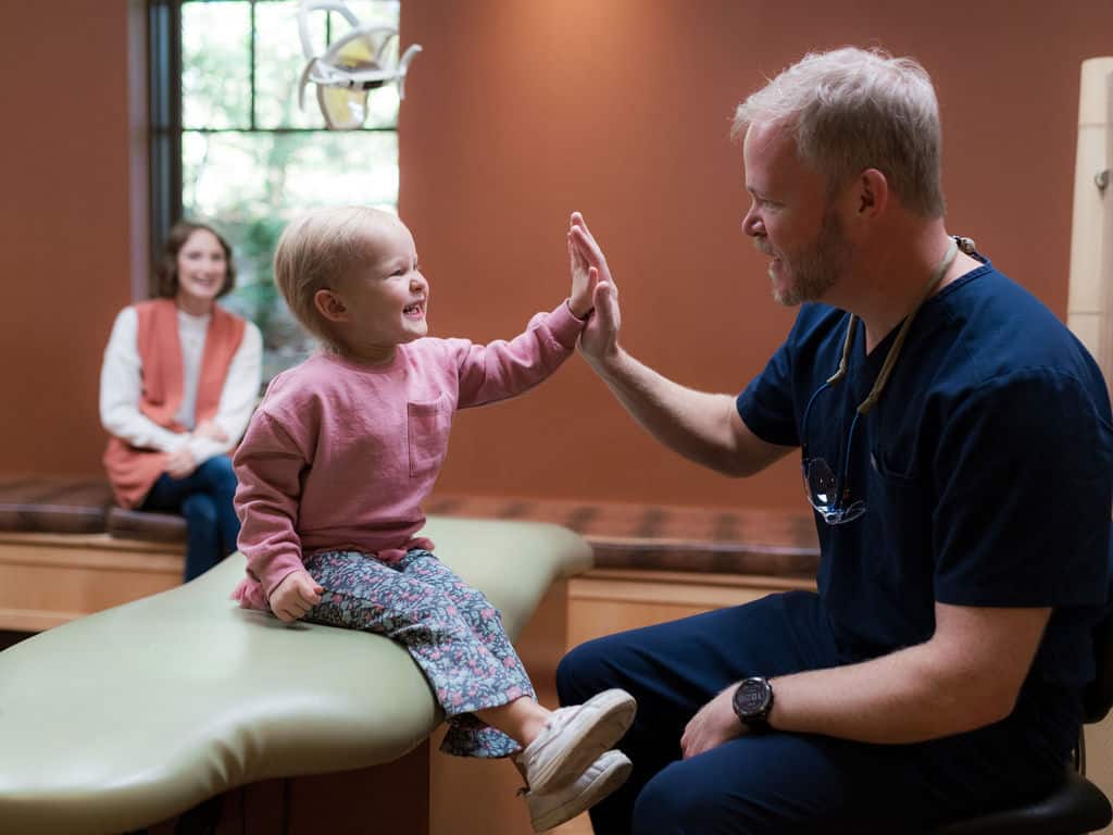
[[[511,637],[591,564],[551,524],[431,518],[423,534]],[[440,724],[402,647],[239,609],[243,571],[233,554],[0,652],[0,832],[138,828],[247,783],[394,760]]]

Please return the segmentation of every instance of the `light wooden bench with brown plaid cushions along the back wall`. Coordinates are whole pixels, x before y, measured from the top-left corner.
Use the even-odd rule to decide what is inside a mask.
[[[810,512],[434,495],[431,515],[552,522],[595,568],[569,583],[569,645],[811,588]],[[0,630],[35,632],[180,583],[185,521],[126,511],[96,478],[0,475]]]

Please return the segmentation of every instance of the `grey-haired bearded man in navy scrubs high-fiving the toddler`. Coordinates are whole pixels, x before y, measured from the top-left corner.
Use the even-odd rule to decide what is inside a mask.
[[[618,342],[601,284],[582,353],[664,445],[730,475],[799,450],[818,595],[585,644],[578,704],[639,705],[597,835],[914,833],[1062,780],[1107,593],[1113,429],[1102,375],[1038,301],[945,228],[938,106],[883,52],[809,55],[736,116],[785,343],[732,397]]]

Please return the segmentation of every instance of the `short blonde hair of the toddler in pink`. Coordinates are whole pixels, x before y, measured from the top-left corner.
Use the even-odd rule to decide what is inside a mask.
[[[290,220],[278,238],[275,284],[302,326],[336,353],[344,353],[344,345],[317,311],[314,296],[366,263],[375,228],[388,220],[400,223],[370,206],[318,208]]]

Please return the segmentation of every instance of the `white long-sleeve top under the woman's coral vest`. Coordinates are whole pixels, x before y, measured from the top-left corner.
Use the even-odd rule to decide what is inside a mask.
[[[200,380],[205,334],[210,315],[191,316],[178,311],[178,338],[181,344],[181,405],[175,420],[193,429],[196,423],[197,385]],[[116,317],[112,335],[105,348],[100,369],[100,422],[105,430],[141,449],[173,452],[189,445],[194,460],[200,464],[214,455],[228,452],[247,429],[259,391],[263,362],[263,335],[247,322],[244,337],[228,366],[228,376],[220,392],[214,421],[227,441],[191,438],[188,432],[174,432],[159,426],[139,411],[142,392],[142,363],[138,347],[139,317],[135,307],[125,307]]]

